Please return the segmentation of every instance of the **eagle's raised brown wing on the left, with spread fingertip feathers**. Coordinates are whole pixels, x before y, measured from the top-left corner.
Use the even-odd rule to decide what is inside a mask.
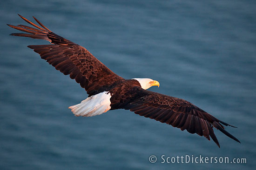
[[[79,46],[72,41],[53,33],[46,26],[42,25],[39,20],[36,22],[42,26],[37,26],[33,22],[19,15],[33,27],[18,25],[11,26],[17,30],[26,33],[12,33],[14,36],[30,37],[33,39],[45,39],[52,44],[28,46],[34,49],[34,52],[40,54],[42,59],[47,60],[56,70],[61,71],[70,78],[80,83],[91,96],[99,92],[104,92],[115,82],[122,78],[112,72],[106,65],[96,59],[86,48]]]

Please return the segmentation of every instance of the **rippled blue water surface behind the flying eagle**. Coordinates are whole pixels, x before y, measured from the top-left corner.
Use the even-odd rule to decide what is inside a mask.
[[[256,3],[253,0],[8,0],[0,2],[0,170],[253,170],[256,168]],[[133,112],[74,117],[87,97],[5,24],[36,16],[85,46],[124,78],[184,98],[242,144],[216,131],[221,148]],[[150,163],[148,157],[158,160]],[[161,163],[161,156],[246,158],[247,163]]]

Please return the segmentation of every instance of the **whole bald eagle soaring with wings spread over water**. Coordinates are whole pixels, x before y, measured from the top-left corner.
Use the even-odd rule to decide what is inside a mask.
[[[10,35],[49,41],[49,45],[28,47],[39,53],[41,58],[53,65],[56,70],[75,79],[88,93],[88,98],[80,104],[69,107],[75,116],[91,117],[109,110],[126,109],[146,118],[170,124],[182,131],[197,133],[208,140],[211,137],[218,147],[220,144],[213,128],[240,143],[223,126],[232,125],[222,122],[186,100],[147,91],[152,86],[159,87],[158,81],[150,78],[122,78],[102,64],[86,48],[53,33],[35,17],[34,20],[40,26],[19,16],[35,28],[7,24],[26,32]]]

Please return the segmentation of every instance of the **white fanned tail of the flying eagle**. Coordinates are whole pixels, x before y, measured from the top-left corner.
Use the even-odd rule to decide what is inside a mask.
[[[75,116],[91,117],[100,115],[111,109],[110,98],[109,92],[101,92],[86,98],[80,104],[69,106],[68,109],[71,109]]]

